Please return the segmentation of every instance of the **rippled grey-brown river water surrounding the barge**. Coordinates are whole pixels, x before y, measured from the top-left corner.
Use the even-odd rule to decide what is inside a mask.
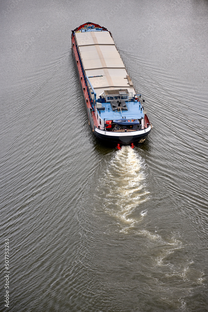
[[[0,7],[9,310],[208,311],[208,2]],[[153,128],[134,149],[89,128],[70,49],[88,21],[112,32],[145,99]]]

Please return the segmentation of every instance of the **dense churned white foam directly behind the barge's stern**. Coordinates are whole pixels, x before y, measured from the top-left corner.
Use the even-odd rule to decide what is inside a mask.
[[[129,146],[123,146],[109,161],[107,170],[99,180],[103,190],[104,209],[116,217],[126,232],[135,222],[141,220],[146,211],[142,211],[139,218],[133,218],[132,212],[148,199],[145,190],[145,164],[141,156]]]

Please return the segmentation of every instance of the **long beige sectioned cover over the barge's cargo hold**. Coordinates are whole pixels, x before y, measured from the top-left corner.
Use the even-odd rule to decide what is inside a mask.
[[[109,32],[77,32],[76,41],[79,46],[85,74],[89,78],[97,95],[104,90],[130,87],[126,77],[127,72]]]

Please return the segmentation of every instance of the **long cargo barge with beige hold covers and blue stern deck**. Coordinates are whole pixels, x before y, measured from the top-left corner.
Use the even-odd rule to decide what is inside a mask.
[[[71,44],[94,135],[118,148],[143,143],[152,126],[111,33],[88,22],[72,30]]]

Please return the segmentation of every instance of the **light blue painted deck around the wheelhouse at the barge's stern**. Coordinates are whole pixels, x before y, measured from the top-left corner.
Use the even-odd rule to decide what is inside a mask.
[[[102,107],[105,107],[105,110],[100,110],[100,117],[102,119],[113,120],[113,119],[140,119],[144,118],[143,109],[141,112],[141,103],[140,102],[126,102],[128,110],[113,111],[110,105],[110,102],[102,103]],[[139,108],[140,105],[140,108]]]

